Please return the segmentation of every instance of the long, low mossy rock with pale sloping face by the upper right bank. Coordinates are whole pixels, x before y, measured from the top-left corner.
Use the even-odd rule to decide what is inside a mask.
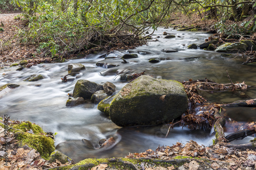
[[[224,43],[221,46],[216,48],[216,52],[230,52],[230,53],[237,53],[237,52],[244,52],[246,51],[247,45],[241,42],[235,42],[235,43]]]

